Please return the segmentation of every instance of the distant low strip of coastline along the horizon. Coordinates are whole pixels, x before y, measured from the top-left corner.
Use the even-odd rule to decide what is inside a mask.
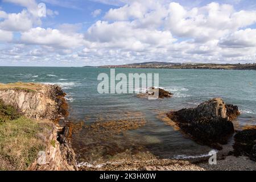
[[[147,62],[124,65],[103,65],[98,68],[166,68],[166,69],[236,69],[256,70],[256,63],[253,64],[204,64],[204,63],[166,63]]]

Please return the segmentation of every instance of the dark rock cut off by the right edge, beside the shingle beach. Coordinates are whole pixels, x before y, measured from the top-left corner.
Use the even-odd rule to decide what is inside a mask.
[[[256,161],[256,129],[238,131],[234,139],[234,155],[246,155]]]

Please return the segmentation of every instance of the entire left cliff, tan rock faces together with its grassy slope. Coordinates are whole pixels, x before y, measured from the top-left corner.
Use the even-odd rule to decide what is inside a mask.
[[[13,166],[13,169],[26,169],[26,170],[75,170],[76,160],[75,152],[71,147],[71,143],[68,139],[68,126],[60,127],[57,121],[61,117],[68,114],[68,105],[65,101],[65,93],[59,86],[34,84],[34,83],[22,83],[17,82],[13,84],[0,84],[0,100],[2,102],[3,109],[9,109],[19,113],[17,121],[6,117],[7,111],[3,111],[3,115],[0,117],[7,118],[5,123],[10,123],[14,127],[19,127],[17,137],[23,138],[25,141],[22,143],[11,143],[13,148],[19,148],[17,154],[7,154],[4,150],[0,151],[0,168],[10,169],[9,166]],[[20,119],[22,117],[22,119]],[[1,119],[0,119],[1,120]],[[26,123],[26,128],[23,129],[23,125]],[[1,131],[3,135],[6,133],[5,125],[1,125]],[[35,129],[30,128],[34,126]],[[27,131],[26,131],[27,130]],[[28,131],[33,130],[31,136],[28,135]],[[7,138],[4,138],[7,139]],[[13,140],[16,140],[14,137]],[[12,142],[13,140],[9,141]],[[25,143],[35,143],[29,148]],[[1,147],[5,147],[5,142],[0,142]],[[19,146],[22,145],[22,146]],[[40,146],[40,147],[37,147]],[[20,149],[21,148],[21,149]],[[18,149],[17,149],[18,150]],[[23,167],[22,161],[20,165],[11,164],[13,160],[20,160],[20,155],[28,150],[33,151],[33,157],[28,153],[27,157],[22,157],[22,161],[30,160],[26,166]],[[43,155],[40,156],[39,154]],[[21,154],[20,154],[21,153]],[[38,155],[38,156],[37,156]],[[13,160],[9,160],[13,158]],[[39,163],[38,160],[43,160]],[[34,161],[33,161],[34,160]]]

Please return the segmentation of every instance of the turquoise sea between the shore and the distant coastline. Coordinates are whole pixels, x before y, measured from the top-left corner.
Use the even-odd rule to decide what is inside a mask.
[[[73,134],[73,145],[81,161],[109,160],[118,153],[137,156],[142,152],[158,158],[206,154],[209,147],[185,138],[161,118],[168,110],[195,107],[214,97],[238,105],[242,114],[236,127],[256,123],[255,71],[118,68],[115,72],[159,73],[159,86],[174,93],[174,97],[146,100],[135,94],[98,94],[97,76],[109,74],[110,69],[106,68],[0,67],[0,82],[43,82],[62,86],[70,107],[67,119],[84,123]],[[112,132],[103,132],[104,128],[92,133],[90,127],[86,127],[124,120],[146,123],[137,129],[126,128],[124,133],[113,132],[111,137]]]

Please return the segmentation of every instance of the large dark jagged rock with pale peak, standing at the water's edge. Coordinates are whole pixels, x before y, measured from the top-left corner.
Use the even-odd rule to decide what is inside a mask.
[[[167,116],[196,142],[221,149],[217,143],[228,142],[228,138],[234,133],[231,121],[238,114],[237,106],[228,105],[228,108],[227,110],[227,105],[221,98],[213,98],[196,108],[171,111]],[[229,115],[232,117],[229,118]]]

